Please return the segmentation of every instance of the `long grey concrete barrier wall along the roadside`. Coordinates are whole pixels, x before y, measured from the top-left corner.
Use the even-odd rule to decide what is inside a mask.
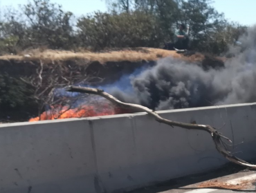
[[[221,128],[239,144],[237,156],[256,157],[256,103],[161,115]],[[131,190],[227,162],[208,133],[170,128],[143,113],[3,124],[0,158],[1,193]]]

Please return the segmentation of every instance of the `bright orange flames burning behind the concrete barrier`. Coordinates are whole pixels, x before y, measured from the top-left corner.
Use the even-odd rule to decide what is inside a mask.
[[[68,119],[68,118],[82,118],[89,116],[104,116],[111,114],[124,114],[129,113],[129,110],[124,110],[109,104],[102,105],[82,105],[79,108],[70,109],[68,107],[51,107],[51,110],[43,112],[41,116],[30,119],[30,122],[55,120],[55,119]]]

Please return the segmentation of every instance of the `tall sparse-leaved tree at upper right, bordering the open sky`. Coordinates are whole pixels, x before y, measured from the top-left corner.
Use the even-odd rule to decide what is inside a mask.
[[[225,28],[226,20],[212,6],[210,0],[188,0],[180,1],[180,22],[190,25],[190,37],[192,49],[207,50],[212,36],[219,30]]]

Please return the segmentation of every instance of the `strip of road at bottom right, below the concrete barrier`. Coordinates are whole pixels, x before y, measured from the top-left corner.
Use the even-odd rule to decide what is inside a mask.
[[[256,172],[244,170],[228,175],[222,175],[225,173],[222,172],[219,176],[214,177],[217,173],[205,174],[204,176],[191,176],[176,182],[169,181],[162,185],[143,188],[132,193],[256,192]]]

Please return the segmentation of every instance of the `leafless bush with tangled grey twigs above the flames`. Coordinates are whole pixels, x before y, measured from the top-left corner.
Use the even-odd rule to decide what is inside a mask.
[[[57,109],[56,106],[64,107],[65,110],[59,108],[64,113],[73,108],[75,101],[81,98],[80,96],[65,96],[60,91],[61,88],[80,83],[87,84],[91,79],[94,79],[94,81],[100,80],[98,77],[90,77],[80,73],[81,71],[84,72],[87,66],[72,65],[65,69],[64,65],[57,62],[48,66],[42,60],[39,61],[39,65],[38,63],[34,65],[37,66],[35,73],[30,77],[20,77],[20,82],[26,83],[30,87],[32,91],[30,99],[37,103],[39,120],[45,108],[51,109],[53,107],[53,109]]]

